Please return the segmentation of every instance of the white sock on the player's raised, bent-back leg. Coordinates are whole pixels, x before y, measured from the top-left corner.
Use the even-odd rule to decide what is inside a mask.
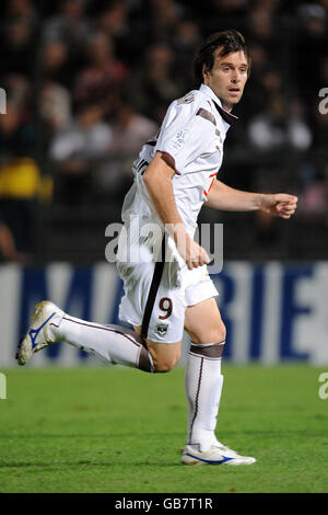
[[[134,331],[92,323],[67,313],[50,325],[57,341],[70,343],[114,365],[154,371],[152,357]]]

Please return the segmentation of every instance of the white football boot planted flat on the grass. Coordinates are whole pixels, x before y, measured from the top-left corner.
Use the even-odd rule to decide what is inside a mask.
[[[221,442],[213,444],[208,450],[201,453],[194,446],[186,445],[181,456],[183,465],[251,465],[256,459],[250,456],[239,456]]]

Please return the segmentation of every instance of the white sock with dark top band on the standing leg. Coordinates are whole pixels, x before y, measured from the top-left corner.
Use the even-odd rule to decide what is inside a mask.
[[[187,445],[208,450],[218,439],[214,434],[223,376],[221,355],[224,342],[215,344],[191,343],[185,371],[188,400]]]

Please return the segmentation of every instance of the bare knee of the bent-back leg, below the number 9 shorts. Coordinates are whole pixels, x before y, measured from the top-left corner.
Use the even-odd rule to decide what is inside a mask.
[[[140,335],[141,325],[134,325],[134,331]],[[147,348],[149,350],[154,368],[156,371],[169,371],[180,358],[181,342],[175,343],[159,343],[152,340],[145,340]]]

